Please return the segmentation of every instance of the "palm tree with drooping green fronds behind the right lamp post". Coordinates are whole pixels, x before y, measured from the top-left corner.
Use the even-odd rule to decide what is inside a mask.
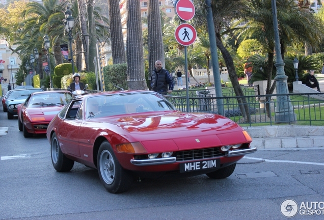
[[[267,52],[267,87],[266,94],[272,94],[276,84],[272,85],[272,74],[274,67],[274,28],[271,0],[246,1],[245,12],[241,14],[242,19],[234,26],[240,29],[246,38],[257,38]],[[300,10],[294,0],[277,1],[277,17],[280,35],[280,50],[284,60],[287,46],[293,42],[309,43],[314,48],[318,47],[323,36],[323,26],[315,17],[305,10]],[[238,25],[245,23],[241,27]],[[267,97],[269,98],[269,97]],[[268,108],[269,106],[267,106]],[[269,113],[269,111],[267,111]]]

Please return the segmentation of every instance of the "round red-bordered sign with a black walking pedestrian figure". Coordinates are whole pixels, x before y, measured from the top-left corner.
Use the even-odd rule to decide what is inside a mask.
[[[197,38],[196,29],[193,25],[188,23],[183,23],[177,26],[174,35],[178,43],[183,46],[193,44]]]

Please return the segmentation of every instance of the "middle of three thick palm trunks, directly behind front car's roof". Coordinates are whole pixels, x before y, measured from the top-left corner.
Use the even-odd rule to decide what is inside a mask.
[[[141,6],[138,0],[127,0],[127,80],[130,90],[147,89],[144,59]]]

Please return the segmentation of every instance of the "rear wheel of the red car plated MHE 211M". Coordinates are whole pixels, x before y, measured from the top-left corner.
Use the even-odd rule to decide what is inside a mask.
[[[58,172],[68,172],[73,168],[74,160],[67,158],[59,145],[56,133],[53,133],[50,141],[50,155],[53,167]]]

